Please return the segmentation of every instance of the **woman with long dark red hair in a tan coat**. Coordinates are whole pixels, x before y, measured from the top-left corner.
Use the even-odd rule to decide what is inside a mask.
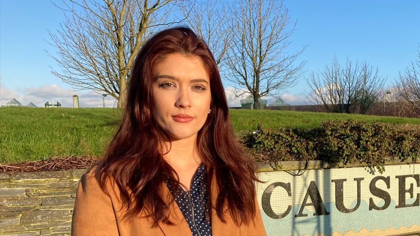
[[[191,29],[163,30],[137,55],[105,157],[80,179],[72,235],[266,235],[256,170],[209,48]]]

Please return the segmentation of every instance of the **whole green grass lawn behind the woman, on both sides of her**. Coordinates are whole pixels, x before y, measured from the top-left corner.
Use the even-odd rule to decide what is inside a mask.
[[[55,156],[103,155],[122,112],[109,108],[0,108],[0,163]],[[75,118],[72,118],[74,116]],[[265,128],[311,128],[328,119],[420,124],[416,118],[376,117],[273,110],[231,110],[233,127],[242,135]]]

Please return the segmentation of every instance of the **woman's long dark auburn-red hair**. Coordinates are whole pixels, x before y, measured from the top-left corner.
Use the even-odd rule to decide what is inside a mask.
[[[134,219],[145,210],[154,226],[159,222],[172,224],[169,221],[171,202],[162,195],[163,189],[159,186],[168,179],[179,186],[179,179],[159,153],[158,147],[169,141],[169,137],[159,129],[151,113],[152,69],[172,53],[200,57],[210,77],[211,113],[197,135],[197,149],[208,170],[207,194],[211,196],[215,178],[213,184],[217,183],[218,197],[209,197],[205,208],[214,208],[218,218],[225,222],[227,204],[236,225],[249,224],[255,216],[257,165],[235,138],[220,74],[210,49],[185,27],[162,30],[140,49],[128,81],[121,124],[99,164],[101,188],[107,192],[106,177],[112,177],[124,197],[131,199],[127,201],[126,220]],[[209,214],[206,218],[209,220]]]

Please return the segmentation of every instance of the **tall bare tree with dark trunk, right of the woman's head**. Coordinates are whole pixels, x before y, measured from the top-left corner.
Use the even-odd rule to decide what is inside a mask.
[[[227,79],[236,85],[236,97],[249,92],[259,109],[260,97],[296,85],[306,61],[294,62],[306,46],[291,55],[285,51],[297,22],[287,29],[290,15],[283,0],[236,0],[228,9],[232,42],[226,54]]]

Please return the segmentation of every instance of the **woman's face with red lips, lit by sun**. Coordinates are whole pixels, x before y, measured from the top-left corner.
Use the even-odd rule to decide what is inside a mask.
[[[210,78],[196,56],[169,54],[153,68],[152,115],[173,140],[195,136],[207,119]]]

